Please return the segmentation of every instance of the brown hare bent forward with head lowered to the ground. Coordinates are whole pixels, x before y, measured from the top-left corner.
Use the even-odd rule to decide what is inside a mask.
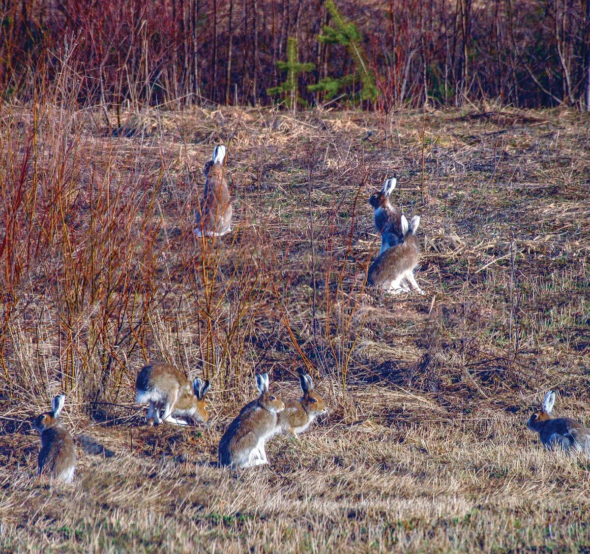
[[[209,390],[208,380],[195,379],[192,384],[186,375],[168,364],[156,363],[143,366],[135,380],[135,402],[149,402],[146,422],[148,425],[159,425],[162,421],[186,425],[183,419],[174,416],[185,416],[199,423],[207,423],[209,413],[205,396]],[[160,409],[164,409],[160,419]]]

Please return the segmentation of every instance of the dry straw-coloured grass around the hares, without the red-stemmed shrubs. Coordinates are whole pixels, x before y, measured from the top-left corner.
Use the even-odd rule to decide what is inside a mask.
[[[212,464],[225,425],[252,394],[249,384],[235,384],[235,402],[218,390],[205,428],[148,429],[140,412],[124,407],[114,425],[100,425],[68,406],[68,428],[115,455],[79,448],[75,484],[50,487],[34,481],[38,438],[18,423],[46,399],[23,407],[13,391],[2,402],[1,548],[502,552],[590,545],[590,466],[546,454],[524,426],[549,387],[560,392],[557,413],[588,423],[588,118],[428,115],[427,206],[419,193],[421,114],[392,116],[388,148],[378,122],[365,114],[314,113],[303,121],[255,111],[165,113],[140,154],[137,138],[117,144],[142,157],[147,177],[162,164],[165,180],[177,183],[186,172],[185,140],[189,155],[202,159],[232,135],[228,171],[238,217],[275,209],[266,229],[281,260],[277,281],[291,279],[284,291],[291,326],[326,375],[318,387],[330,415],[300,442],[273,439],[270,470],[235,474]],[[90,140],[103,154],[112,142],[96,129]],[[379,248],[366,197],[394,170],[396,200],[422,216],[422,298],[358,285]],[[344,307],[336,306],[333,319],[359,302],[346,389],[329,343],[314,338],[310,311],[312,270],[321,275],[331,259],[329,234],[346,290],[334,297]],[[326,299],[321,281],[318,313]],[[261,317],[255,331],[263,335],[268,325]],[[284,330],[280,338],[283,346],[274,343],[263,367],[274,371],[278,389],[295,396],[293,364],[300,361]],[[182,350],[168,339],[149,346],[153,356],[169,344]],[[266,347],[252,348],[261,355]],[[174,353],[182,359],[184,351]],[[123,406],[132,405],[133,371],[118,397]]]

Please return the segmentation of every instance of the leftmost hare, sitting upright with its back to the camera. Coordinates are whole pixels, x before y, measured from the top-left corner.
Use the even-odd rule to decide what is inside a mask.
[[[71,483],[76,472],[76,448],[71,435],[60,423],[64,403],[65,395],[56,396],[51,402],[51,412],[42,413],[33,422],[41,435],[37,474]]]

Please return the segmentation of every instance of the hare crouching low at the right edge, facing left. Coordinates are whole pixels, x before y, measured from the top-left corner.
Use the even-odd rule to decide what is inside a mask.
[[[539,434],[543,446],[548,450],[562,448],[569,454],[585,452],[590,455],[590,431],[572,418],[553,419],[551,411],[554,403],[555,393],[549,391],[543,399],[542,408],[530,416],[526,426]]]

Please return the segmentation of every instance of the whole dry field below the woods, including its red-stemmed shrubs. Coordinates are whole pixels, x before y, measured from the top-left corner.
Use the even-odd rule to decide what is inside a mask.
[[[525,427],[590,424],[590,118],[0,108],[2,552],[589,552],[590,461]],[[110,128],[109,128],[110,127]],[[191,223],[228,146],[235,229]],[[422,217],[425,296],[366,289],[369,195]],[[143,422],[146,361],[212,381],[211,421]],[[270,467],[216,467],[255,371],[329,406]],[[67,393],[74,483],[35,478]]]

